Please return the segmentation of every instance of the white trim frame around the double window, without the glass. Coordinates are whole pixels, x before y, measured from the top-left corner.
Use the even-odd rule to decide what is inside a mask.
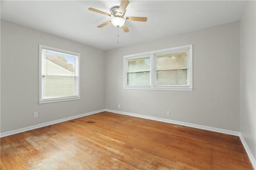
[[[179,51],[188,51],[188,85],[179,86],[162,86],[156,85],[156,55],[159,53],[173,53]],[[142,89],[142,90],[173,90],[173,91],[193,91],[193,51],[192,44],[183,45],[180,47],[172,47],[167,49],[160,49],[149,51],[145,53],[138,53],[124,56],[124,89]],[[128,59],[137,59],[150,56],[150,85],[127,85]]]

